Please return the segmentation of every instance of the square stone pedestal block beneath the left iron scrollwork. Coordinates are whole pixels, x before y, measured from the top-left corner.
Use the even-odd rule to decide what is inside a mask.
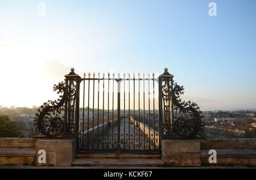
[[[39,163],[38,151],[46,151],[46,163]],[[36,165],[71,166],[76,156],[75,139],[47,139],[36,142]]]

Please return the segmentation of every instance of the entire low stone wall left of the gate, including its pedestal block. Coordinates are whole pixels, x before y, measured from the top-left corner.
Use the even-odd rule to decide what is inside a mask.
[[[46,151],[46,163],[39,164],[38,151]],[[71,166],[76,156],[76,140],[0,138],[0,165]]]

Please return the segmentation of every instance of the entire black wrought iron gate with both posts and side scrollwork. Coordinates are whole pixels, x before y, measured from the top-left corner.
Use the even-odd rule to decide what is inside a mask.
[[[72,68],[65,82],[53,87],[59,98],[38,109],[34,134],[75,138],[79,152],[118,153],[159,152],[161,139],[204,137],[199,106],[182,101],[184,87],[174,83],[167,68],[164,71],[158,78],[81,78]]]

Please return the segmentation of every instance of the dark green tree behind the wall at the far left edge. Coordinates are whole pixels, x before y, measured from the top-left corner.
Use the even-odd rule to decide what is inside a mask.
[[[11,121],[7,115],[0,115],[0,138],[23,138],[16,123]]]

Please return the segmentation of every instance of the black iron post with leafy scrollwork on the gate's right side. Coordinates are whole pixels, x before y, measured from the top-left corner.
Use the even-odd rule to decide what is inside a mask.
[[[182,101],[184,87],[175,83],[173,75],[167,72],[159,77],[163,102],[162,135],[172,138],[203,137],[204,122],[199,106],[192,101]],[[160,113],[160,112],[159,112]]]

